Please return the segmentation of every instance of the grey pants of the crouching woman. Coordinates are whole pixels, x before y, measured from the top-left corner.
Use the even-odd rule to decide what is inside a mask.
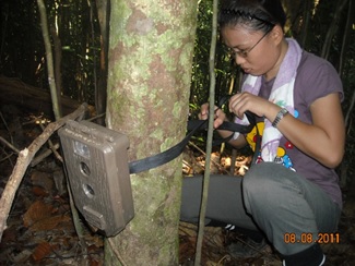
[[[184,179],[181,220],[198,221],[201,190],[201,176]],[[293,255],[315,244],[319,233],[334,232],[340,215],[339,205],[317,184],[263,162],[244,178],[211,177],[205,222],[260,230],[281,254]]]

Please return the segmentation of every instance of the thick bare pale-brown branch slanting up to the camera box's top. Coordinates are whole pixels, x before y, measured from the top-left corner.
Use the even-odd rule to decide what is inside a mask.
[[[52,122],[47,125],[44,132],[32,142],[32,144],[19,153],[16,165],[9,178],[9,181],[4,188],[0,200],[0,242],[2,238],[3,230],[5,229],[5,221],[9,217],[12,202],[14,200],[15,193],[20,186],[20,183],[23,179],[23,176],[26,172],[28,165],[32,159],[39,150],[39,148],[48,141],[48,138],[60,129],[66,121],[74,120],[85,113],[87,105],[81,105],[74,112],[63,117],[56,122]]]

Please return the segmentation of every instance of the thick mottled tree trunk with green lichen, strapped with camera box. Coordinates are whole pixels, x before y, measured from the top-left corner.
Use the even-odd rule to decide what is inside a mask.
[[[113,0],[108,128],[129,136],[129,159],[186,134],[197,1]],[[177,265],[181,159],[131,174],[135,216],[105,245],[105,265]]]

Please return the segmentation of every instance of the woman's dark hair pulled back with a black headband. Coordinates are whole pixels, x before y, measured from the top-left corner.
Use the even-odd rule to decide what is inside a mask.
[[[256,31],[284,28],[286,14],[280,0],[223,0],[218,14],[220,28],[244,24]]]

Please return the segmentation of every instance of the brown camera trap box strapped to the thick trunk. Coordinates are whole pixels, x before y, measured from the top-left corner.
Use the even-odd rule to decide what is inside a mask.
[[[88,121],[68,121],[58,131],[74,203],[106,237],[133,218],[126,135]]]

